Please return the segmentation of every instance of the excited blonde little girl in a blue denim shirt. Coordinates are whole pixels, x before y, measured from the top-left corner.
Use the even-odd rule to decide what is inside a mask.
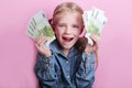
[[[95,46],[79,37],[84,29],[82,12],[74,2],[61,3],[51,20],[56,40],[50,47],[43,47],[46,37],[37,38],[35,74],[41,88],[92,88],[97,43],[96,36],[91,36]]]

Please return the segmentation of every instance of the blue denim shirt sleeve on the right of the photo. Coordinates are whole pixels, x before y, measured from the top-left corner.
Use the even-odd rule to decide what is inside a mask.
[[[92,88],[95,80],[95,54],[82,53],[79,68],[76,73],[77,88]]]

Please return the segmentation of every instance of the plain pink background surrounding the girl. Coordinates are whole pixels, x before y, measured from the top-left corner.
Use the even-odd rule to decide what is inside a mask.
[[[132,88],[131,0],[0,0],[0,88],[37,88],[36,48],[25,34],[26,25],[38,10],[50,19],[64,1],[75,1],[84,10],[96,6],[106,11],[95,88]]]

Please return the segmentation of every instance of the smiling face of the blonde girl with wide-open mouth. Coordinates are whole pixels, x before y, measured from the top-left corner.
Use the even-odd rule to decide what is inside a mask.
[[[58,18],[59,16],[59,18]],[[77,42],[82,29],[81,15],[77,12],[63,12],[57,15],[55,25],[56,38],[63,51],[70,50]]]

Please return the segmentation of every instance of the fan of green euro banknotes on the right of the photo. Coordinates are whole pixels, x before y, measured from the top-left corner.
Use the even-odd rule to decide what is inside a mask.
[[[101,34],[101,31],[108,20],[105,16],[105,11],[94,7],[91,10],[84,12],[82,20],[87,31],[85,36],[88,38],[88,43],[94,45],[94,41],[90,38],[90,35]]]

